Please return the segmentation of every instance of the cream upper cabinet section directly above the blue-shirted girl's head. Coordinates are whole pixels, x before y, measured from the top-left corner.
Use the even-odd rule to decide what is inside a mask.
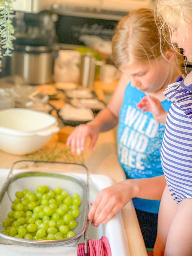
[[[101,8],[129,12],[137,8],[154,8],[155,0],[101,0]]]

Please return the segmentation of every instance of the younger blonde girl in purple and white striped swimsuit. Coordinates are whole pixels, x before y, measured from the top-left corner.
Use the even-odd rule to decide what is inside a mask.
[[[158,0],[157,14],[162,19],[160,31],[169,30],[172,44],[183,48],[192,62],[192,0]],[[138,104],[156,120],[161,117],[166,122],[161,162],[167,185],[159,208],[154,256],[191,256],[192,72],[185,79],[179,77],[164,94],[172,102],[168,114],[152,97]]]

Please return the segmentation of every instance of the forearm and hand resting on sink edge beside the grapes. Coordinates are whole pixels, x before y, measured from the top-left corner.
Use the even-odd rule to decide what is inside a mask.
[[[166,181],[164,175],[153,178],[127,179],[99,192],[91,203],[88,219],[93,226],[108,222],[132,198],[160,200]]]

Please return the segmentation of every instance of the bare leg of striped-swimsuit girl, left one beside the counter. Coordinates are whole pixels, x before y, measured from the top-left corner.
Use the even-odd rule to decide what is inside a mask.
[[[178,204],[173,200],[167,185],[163,191],[158,214],[157,238],[154,246],[154,256],[163,256],[171,222],[177,211]],[[173,256],[172,254],[171,256]],[[174,255],[175,256],[175,255]]]

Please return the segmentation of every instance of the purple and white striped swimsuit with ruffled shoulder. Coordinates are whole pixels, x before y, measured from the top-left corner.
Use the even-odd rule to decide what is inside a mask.
[[[192,84],[183,78],[170,84],[164,92],[172,101],[161,150],[161,163],[169,191],[179,204],[192,198]]]

